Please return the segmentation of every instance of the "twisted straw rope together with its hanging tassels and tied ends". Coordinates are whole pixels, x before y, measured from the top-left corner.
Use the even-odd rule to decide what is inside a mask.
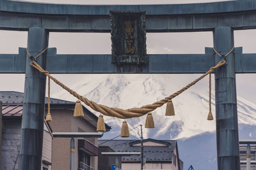
[[[206,73],[202,74],[202,76],[200,76],[199,78],[197,78],[196,80],[192,81],[191,83],[189,83],[188,85],[186,85],[185,87],[183,87],[182,89],[178,90],[177,92],[173,93],[172,95],[165,97],[164,99],[161,99],[160,101],[157,101],[155,103],[152,104],[147,104],[145,106],[141,106],[141,108],[130,108],[127,110],[122,110],[120,108],[109,108],[108,106],[104,106],[102,104],[97,104],[93,101],[90,101],[89,99],[87,99],[86,97],[83,97],[79,94],[77,94],[77,92],[75,92],[74,90],[68,88],[66,85],[64,85],[63,83],[61,83],[60,81],[58,81],[56,78],[54,78],[53,76],[51,76],[51,74],[48,71],[45,71],[37,62],[36,62],[36,58],[39,57],[40,55],[42,55],[42,53],[44,53],[47,50],[47,48],[45,48],[44,51],[42,51],[41,53],[39,53],[38,55],[36,55],[35,58],[33,58],[33,61],[31,61],[31,66],[33,66],[35,69],[37,69],[38,71],[40,71],[41,73],[44,73],[46,76],[48,76],[49,80],[51,79],[52,81],[54,81],[55,83],[57,83],[58,85],[60,85],[60,87],[62,87],[63,89],[67,90],[67,92],[69,92],[70,94],[72,94],[72,96],[76,97],[77,99],[79,99],[78,103],[80,103],[80,101],[82,101],[84,104],[86,104],[87,106],[89,106],[90,108],[92,108],[95,111],[98,111],[100,113],[102,113],[102,115],[106,115],[108,117],[116,117],[116,118],[122,118],[122,119],[127,119],[127,118],[133,118],[133,117],[141,117],[143,115],[146,115],[148,113],[148,119],[147,119],[147,127],[148,128],[152,128],[154,127],[154,120],[152,117],[152,114],[150,112],[156,110],[156,108],[159,108],[161,106],[163,106],[163,104],[167,103],[167,108],[166,108],[166,115],[175,115],[174,114],[174,108],[173,108],[173,103],[172,103],[172,99],[174,97],[179,96],[179,94],[181,94],[182,92],[184,92],[185,90],[189,89],[189,87],[195,85],[198,81],[202,80],[202,78],[204,78],[205,76],[207,76],[209,74],[210,80],[209,80],[209,113],[211,113],[211,73],[212,71],[214,71],[215,69],[217,69],[218,67],[223,66],[224,64],[226,64],[225,59],[221,60],[218,64],[216,64],[216,66],[211,67],[209,69],[209,71],[207,71]],[[213,50],[220,55],[220,53],[218,53],[215,48],[213,48]],[[232,48],[232,50],[234,50],[234,48]],[[230,52],[228,52],[225,56],[229,55],[232,50],[230,50]],[[31,57],[31,55],[28,52],[28,48],[26,49],[29,57]],[[220,55],[221,56],[221,55]],[[83,108],[82,108],[83,110]],[[104,124],[104,120],[103,120],[103,116],[100,115],[100,118],[98,120],[98,123],[100,124],[99,126],[101,127],[97,127],[97,129],[99,129],[98,131],[106,131],[106,129],[104,129],[103,124]],[[208,119],[208,118],[207,118]],[[211,118],[210,118],[211,119]],[[213,117],[212,117],[213,119]],[[211,120],[212,120],[211,119]],[[100,122],[99,122],[100,121]],[[150,123],[149,123],[150,122]],[[97,124],[98,124],[97,123]],[[124,129],[128,128],[127,122],[124,121],[123,122],[124,125]],[[122,125],[122,126],[123,126]],[[125,132],[125,134],[123,135],[123,137],[127,137],[129,136],[129,134],[126,133],[126,131],[122,131],[123,133]]]

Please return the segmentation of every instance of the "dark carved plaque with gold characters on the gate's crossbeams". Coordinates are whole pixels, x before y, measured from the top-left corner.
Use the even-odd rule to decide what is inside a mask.
[[[145,11],[109,11],[112,63],[142,65],[148,62]]]

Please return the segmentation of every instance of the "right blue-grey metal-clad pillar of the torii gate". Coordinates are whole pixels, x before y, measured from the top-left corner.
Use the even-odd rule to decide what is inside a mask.
[[[214,30],[214,48],[225,55],[234,47],[234,32],[230,27]],[[221,58],[215,55],[215,62]],[[216,69],[216,142],[219,170],[240,170],[237,122],[236,73],[234,54],[226,57],[227,64]]]

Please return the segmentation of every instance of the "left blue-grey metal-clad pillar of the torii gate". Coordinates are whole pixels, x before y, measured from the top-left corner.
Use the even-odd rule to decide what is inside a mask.
[[[48,33],[40,27],[28,31],[28,51],[34,57],[48,46]],[[36,59],[45,68],[45,54]],[[20,170],[40,170],[44,137],[45,75],[30,66],[26,56],[24,106],[20,138]]]

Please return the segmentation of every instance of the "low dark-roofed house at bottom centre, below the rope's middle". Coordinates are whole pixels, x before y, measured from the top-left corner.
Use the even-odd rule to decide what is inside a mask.
[[[111,157],[106,158],[101,152],[141,152],[141,140],[99,140],[99,169],[110,169],[115,164]],[[182,170],[183,162],[179,159],[177,141],[143,139],[144,169]],[[122,170],[134,170],[141,167],[141,156],[122,157]]]

